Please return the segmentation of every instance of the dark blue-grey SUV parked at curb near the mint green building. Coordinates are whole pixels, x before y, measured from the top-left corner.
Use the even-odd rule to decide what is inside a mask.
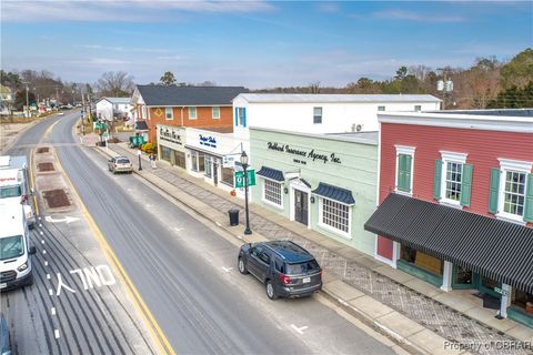
[[[270,300],[310,296],[322,288],[322,270],[306,250],[290,241],[241,246],[241,274],[251,273],[264,283]]]

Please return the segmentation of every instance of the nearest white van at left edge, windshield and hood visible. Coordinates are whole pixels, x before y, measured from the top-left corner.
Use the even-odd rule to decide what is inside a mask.
[[[20,205],[0,204],[0,291],[33,284],[30,232]]]

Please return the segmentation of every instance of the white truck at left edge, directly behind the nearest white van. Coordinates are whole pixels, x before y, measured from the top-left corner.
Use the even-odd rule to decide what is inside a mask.
[[[0,156],[0,199],[2,203],[22,204],[30,227],[36,224],[36,214],[28,180],[28,160],[23,155]]]

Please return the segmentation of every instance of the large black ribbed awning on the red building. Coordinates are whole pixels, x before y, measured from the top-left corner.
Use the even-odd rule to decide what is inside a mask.
[[[533,229],[395,193],[364,229],[533,293]]]

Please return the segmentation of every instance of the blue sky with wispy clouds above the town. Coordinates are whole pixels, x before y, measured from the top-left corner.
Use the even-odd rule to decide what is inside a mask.
[[[94,82],[343,87],[533,47],[532,1],[1,1],[1,67]]]

